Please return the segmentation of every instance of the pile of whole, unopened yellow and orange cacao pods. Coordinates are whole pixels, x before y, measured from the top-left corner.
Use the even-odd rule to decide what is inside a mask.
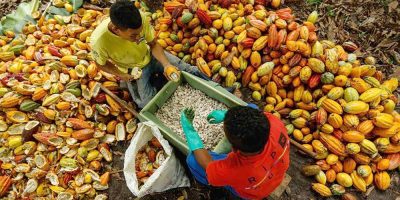
[[[214,81],[249,87],[265,102],[264,111],[317,153],[304,173],[315,176],[320,195],[352,186],[366,192],[373,183],[388,189],[387,171],[400,165],[398,80],[384,80],[373,57],[359,59],[356,44],[319,40],[317,12],[298,23],[290,8],[272,10],[269,2],[166,1],[152,15],[158,43]]]

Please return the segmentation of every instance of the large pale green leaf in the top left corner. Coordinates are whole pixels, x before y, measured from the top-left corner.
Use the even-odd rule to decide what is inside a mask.
[[[25,24],[36,24],[36,21],[32,18],[32,13],[38,10],[39,3],[39,0],[32,0],[29,3],[19,4],[14,12],[8,14],[1,20],[0,34],[6,30],[11,30],[18,34],[22,32],[22,28]]]

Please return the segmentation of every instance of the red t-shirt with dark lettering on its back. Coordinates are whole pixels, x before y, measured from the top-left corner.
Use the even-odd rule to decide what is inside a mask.
[[[262,199],[280,185],[289,168],[289,137],[284,124],[265,113],[270,133],[262,153],[243,156],[231,152],[224,160],[211,162],[206,169],[213,186],[231,186],[240,197]]]

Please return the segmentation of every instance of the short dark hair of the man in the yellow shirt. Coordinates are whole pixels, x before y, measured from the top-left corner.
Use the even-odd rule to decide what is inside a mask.
[[[119,29],[138,29],[142,26],[139,10],[128,0],[120,0],[111,5],[110,18]]]

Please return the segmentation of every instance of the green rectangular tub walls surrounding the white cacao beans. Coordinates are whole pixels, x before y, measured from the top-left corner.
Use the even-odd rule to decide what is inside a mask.
[[[247,103],[226,91],[223,87],[215,82],[205,81],[187,72],[182,72],[181,76],[182,78],[179,82],[170,81],[157,93],[157,95],[139,113],[139,120],[142,122],[154,122],[161,130],[161,133],[164,135],[164,137],[172,145],[187,155],[189,153],[189,149],[186,142],[154,115],[154,113],[157,112],[157,110],[161,108],[171,97],[179,85],[188,83],[191,87],[204,92],[209,97],[225,104],[228,107],[234,107],[238,105],[245,106]],[[230,144],[227,139],[223,138],[221,141],[219,141],[218,145],[214,148],[214,151],[219,153],[229,152]]]

